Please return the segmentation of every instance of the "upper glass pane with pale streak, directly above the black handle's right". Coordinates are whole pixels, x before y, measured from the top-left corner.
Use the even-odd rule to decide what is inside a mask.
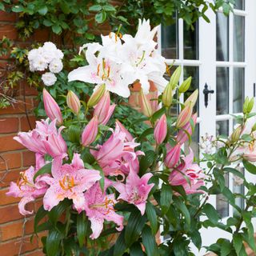
[[[216,59],[229,60],[229,18],[222,13],[216,16]]]

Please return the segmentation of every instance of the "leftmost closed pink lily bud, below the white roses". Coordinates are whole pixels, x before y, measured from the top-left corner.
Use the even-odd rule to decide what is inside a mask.
[[[42,90],[42,99],[45,106],[46,114],[50,118],[50,120],[54,121],[54,119],[57,119],[58,125],[62,124],[62,112],[57,102],[54,101],[54,98],[48,93],[45,88]]]

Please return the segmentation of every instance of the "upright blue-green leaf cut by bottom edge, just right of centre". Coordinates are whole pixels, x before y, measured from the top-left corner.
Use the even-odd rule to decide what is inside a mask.
[[[154,235],[151,232],[150,226],[144,226],[142,230],[142,243],[146,249],[146,255],[158,256],[158,246],[155,242]]]

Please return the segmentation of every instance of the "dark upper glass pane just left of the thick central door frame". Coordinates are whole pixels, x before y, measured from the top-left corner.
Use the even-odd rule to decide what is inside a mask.
[[[198,59],[198,22],[194,25],[194,30],[184,26],[184,58]]]

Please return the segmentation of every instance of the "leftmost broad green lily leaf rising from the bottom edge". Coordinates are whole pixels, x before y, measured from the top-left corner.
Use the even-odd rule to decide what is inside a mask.
[[[56,256],[60,250],[62,234],[57,230],[50,230],[46,238],[46,252],[48,256]]]

